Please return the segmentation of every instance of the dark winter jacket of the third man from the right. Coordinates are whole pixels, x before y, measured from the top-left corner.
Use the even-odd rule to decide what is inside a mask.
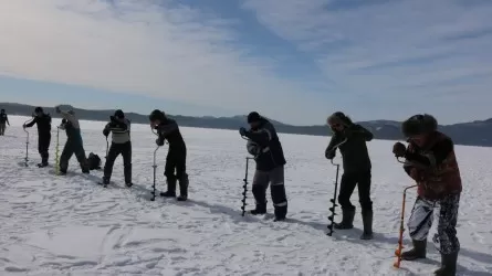
[[[262,119],[260,127],[251,129],[245,136],[250,139],[248,152],[254,156],[257,170],[271,171],[286,163],[282,144],[269,120]]]

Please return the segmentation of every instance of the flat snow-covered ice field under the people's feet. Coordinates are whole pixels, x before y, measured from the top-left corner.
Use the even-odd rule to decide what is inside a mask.
[[[324,159],[327,137],[280,135],[290,205],[289,220],[275,223],[270,199],[270,215],[241,216],[247,152],[238,131],[181,128],[190,200],[158,197],[150,202],[156,137],[148,126],[133,126],[135,185],[124,188],[119,157],[114,184],[104,189],[95,183],[102,171],[82,176],[75,157],[66,177],[51,174],[53,167],[36,168],[35,127],[30,129],[30,166],[19,166],[27,137],[21,125],[28,118],[10,119],[12,127],[0,137],[0,275],[432,275],[440,264],[429,238],[428,259],[392,268],[401,191],[412,182],[396,162],[391,141],[369,144],[375,240],[360,241],[357,191],[356,229],[325,235],[335,178],[335,168]],[[86,153],[104,162],[104,123],[81,125]],[[61,151],[65,134],[60,137]],[[166,147],[158,151],[158,192],[165,189],[166,153]],[[458,146],[457,155],[463,178],[459,275],[492,275],[492,149]],[[411,191],[407,198],[406,219],[415,197]]]

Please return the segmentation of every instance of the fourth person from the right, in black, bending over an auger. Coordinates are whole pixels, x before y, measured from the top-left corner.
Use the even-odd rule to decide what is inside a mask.
[[[156,144],[164,146],[165,140],[169,144],[169,150],[166,158],[166,168],[164,174],[167,180],[167,191],[161,192],[160,197],[176,198],[176,182],[179,181],[178,201],[188,199],[188,174],[186,173],[186,144],[179,131],[176,120],[170,119],[164,112],[155,109],[149,115],[150,127],[157,130],[158,138]],[[176,171],[176,174],[175,174]]]

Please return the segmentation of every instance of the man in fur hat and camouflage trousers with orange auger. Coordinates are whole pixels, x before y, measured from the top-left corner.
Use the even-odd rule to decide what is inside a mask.
[[[456,226],[462,187],[453,141],[437,130],[438,123],[431,115],[415,115],[401,128],[409,145],[396,142],[392,152],[406,159],[404,169],[418,184],[418,197],[408,220],[414,248],[404,252],[401,258],[426,257],[433,212],[439,210],[433,242],[439,244],[441,268],[436,275],[456,275],[460,250]]]

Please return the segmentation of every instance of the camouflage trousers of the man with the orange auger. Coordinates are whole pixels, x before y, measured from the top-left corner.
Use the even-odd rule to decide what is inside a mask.
[[[458,208],[460,194],[450,194],[442,200],[430,201],[417,198],[410,219],[408,230],[410,237],[416,241],[426,241],[432,227],[433,215],[438,217],[438,231],[432,241],[438,251],[448,255],[460,250],[460,242],[457,237]]]

